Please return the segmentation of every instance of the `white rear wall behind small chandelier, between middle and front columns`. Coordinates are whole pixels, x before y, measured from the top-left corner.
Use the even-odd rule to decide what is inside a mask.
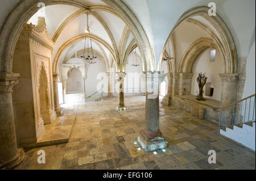
[[[137,58],[137,62],[134,54],[130,54],[127,60],[125,72],[125,92],[127,93],[138,93],[141,92],[141,73],[142,73],[142,63]],[[139,66],[131,66],[133,64],[139,64]]]

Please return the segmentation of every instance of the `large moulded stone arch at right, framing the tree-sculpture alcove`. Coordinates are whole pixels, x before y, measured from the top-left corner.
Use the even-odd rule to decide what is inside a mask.
[[[234,43],[233,36],[231,32],[229,31],[228,26],[226,26],[226,23],[221,19],[221,17],[217,14],[216,16],[209,16],[208,15],[209,8],[206,6],[201,7],[195,7],[193,9],[190,9],[180,17],[174,28],[172,29],[166,44],[164,46],[164,50],[166,48],[166,45],[168,43],[168,40],[170,40],[171,36],[176,30],[176,27],[178,27],[182,22],[185,20],[191,21],[198,26],[201,26],[205,29],[205,31],[208,31],[210,35],[213,36],[212,41],[214,41],[214,44],[218,45],[218,48],[220,52],[224,56],[225,61],[225,73],[237,73],[237,66],[238,66],[238,60],[237,60],[237,49],[236,44]],[[203,23],[201,20],[205,23]],[[164,50],[161,55],[161,59],[164,56]],[[158,70],[160,69],[160,62],[158,65]],[[184,62],[179,65],[179,70],[176,70],[176,72],[179,73],[185,73],[186,71],[180,71],[180,70],[186,70],[183,68]]]

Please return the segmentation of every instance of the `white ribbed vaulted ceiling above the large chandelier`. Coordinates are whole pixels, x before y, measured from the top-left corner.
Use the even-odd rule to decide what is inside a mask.
[[[38,11],[28,23],[37,24],[39,16],[45,17],[49,36],[55,42],[53,61],[59,58],[59,62],[65,63],[76,52],[84,49],[88,13],[90,32],[94,37],[93,49],[105,61],[114,60],[119,70],[124,69],[125,58],[137,47],[133,34],[118,15],[106,10],[109,8],[104,2],[86,2],[91,7],[90,11],[69,5],[52,5]],[[137,52],[139,54],[139,50]]]

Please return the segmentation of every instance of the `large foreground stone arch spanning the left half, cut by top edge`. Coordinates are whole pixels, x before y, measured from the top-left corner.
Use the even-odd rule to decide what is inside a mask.
[[[155,70],[155,57],[154,52],[151,49],[148,37],[143,30],[141,23],[138,21],[133,12],[127,7],[127,5],[119,1],[102,0],[109,7],[97,6],[99,10],[109,11],[115,13],[123,22],[129,26],[135,39],[137,40],[139,47],[141,47],[142,59],[145,62],[147,70]],[[85,2],[80,0],[35,0],[35,1],[21,1],[11,11],[10,15],[6,18],[5,23],[2,26],[0,35],[0,71],[6,73],[13,73],[13,54],[16,45],[16,41],[24,27],[24,24],[39,10],[38,3],[45,3],[49,5],[71,5],[79,7],[80,9],[89,10],[90,7],[86,6]],[[111,8],[110,8],[111,7]],[[56,66],[56,65],[55,65]]]

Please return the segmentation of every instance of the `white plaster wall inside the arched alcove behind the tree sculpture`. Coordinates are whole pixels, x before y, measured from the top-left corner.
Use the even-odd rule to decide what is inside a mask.
[[[191,94],[197,95],[197,92],[199,92],[199,87],[196,82],[196,78],[198,77],[198,74],[206,73],[206,76],[208,77],[207,82],[212,82],[214,92],[213,96],[204,96],[205,98],[214,99],[214,100],[221,100],[221,87],[222,82],[220,78],[220,73],[224,73],[224,62],[221,58],[221,54],[218,50],[216,50],[216,58],[214,62],[210,62],[210,50],[211,48],[208,48],[201,52],[199,56],[197,56],[195,62],[192,65],[192,85],[191,85]],[[205,90],[205,87],[204,87]]]

